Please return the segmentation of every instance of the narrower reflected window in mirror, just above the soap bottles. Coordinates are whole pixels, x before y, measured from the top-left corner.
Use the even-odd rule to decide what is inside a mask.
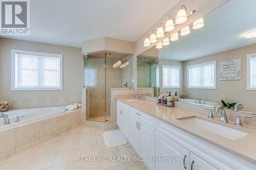
[[[162,88],[180,88],[180,66],[162,65]]]

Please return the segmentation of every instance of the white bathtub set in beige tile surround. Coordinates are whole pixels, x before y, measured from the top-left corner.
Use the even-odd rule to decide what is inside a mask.
[[[4,118],[0,118],[0,130],[5,128],[11,128],[13,126],[18,126],[21,124],[33,122],[45,117],[57,115],[64,113],[66,111],[66,106],[59,107],[44,107],[44,108],[31,108],[31,109],[15,109],[9,110],[7,112],[0,112],[4,114],[8,114],[10,124],[4,125]],[[15,122],[16,117],[19,116],[20,122]]]

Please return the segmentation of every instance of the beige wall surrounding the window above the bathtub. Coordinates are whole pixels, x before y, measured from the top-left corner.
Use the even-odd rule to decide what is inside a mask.
[[[63,90],[11,91],[11,49],[62,54]],[[81,96],[83,88],[81,53],[81,48],[0,38],[0,99]]]

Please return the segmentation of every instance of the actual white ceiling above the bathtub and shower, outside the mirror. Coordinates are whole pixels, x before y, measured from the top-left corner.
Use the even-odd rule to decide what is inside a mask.
[[[33,0],[30,35],[7,38],[81,47],[112,37],[136,41],[179,0]]]

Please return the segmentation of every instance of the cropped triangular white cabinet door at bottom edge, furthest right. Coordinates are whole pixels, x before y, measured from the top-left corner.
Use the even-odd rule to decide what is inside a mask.
[[[190,152],[190,169],[192,170],[218,170],[208,162]]]

